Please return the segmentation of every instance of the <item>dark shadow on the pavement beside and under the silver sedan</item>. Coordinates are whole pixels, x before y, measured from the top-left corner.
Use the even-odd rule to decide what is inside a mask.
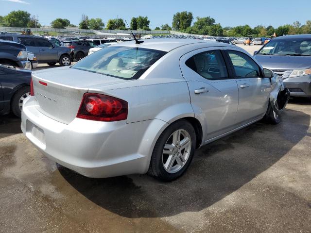
[[[171,183],[148,175],[91,179],[63,166],[58,169],[84,197],[119,216],[166,217],[196,212],[274,165],[308,134],[309,125],[309,115],[287,109],[278,125],[258,122],[197,150],[188,171]]]

